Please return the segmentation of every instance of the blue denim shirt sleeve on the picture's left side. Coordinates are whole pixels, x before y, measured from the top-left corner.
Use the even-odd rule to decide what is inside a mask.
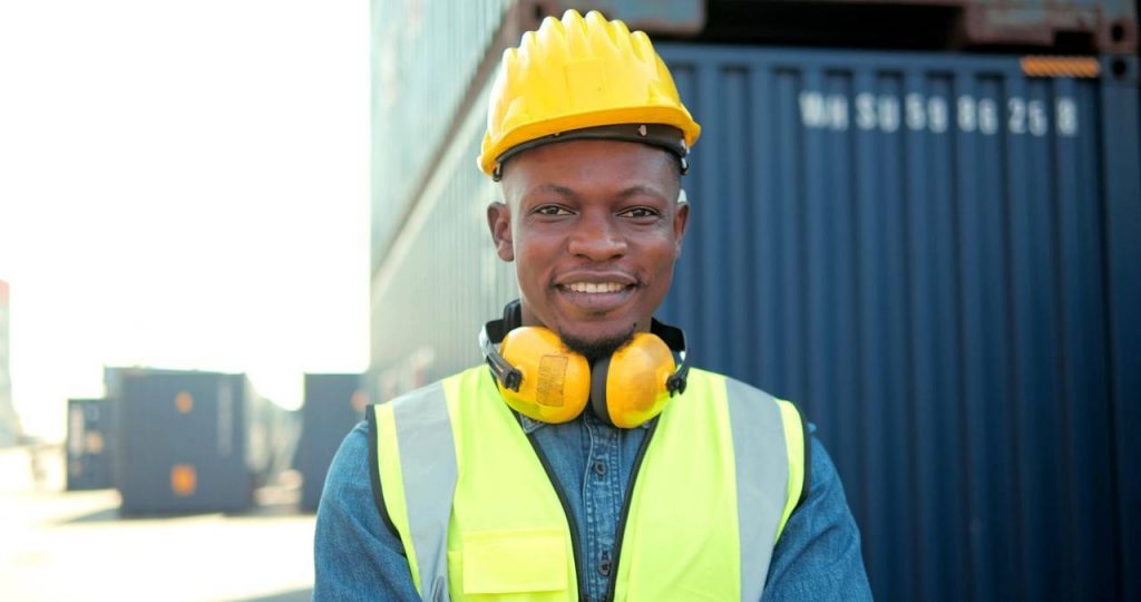
[[[404,545],[380,519],[369,471],[369,426],[361,423],[337,451],[317,507],[315,601],[420,600]]]

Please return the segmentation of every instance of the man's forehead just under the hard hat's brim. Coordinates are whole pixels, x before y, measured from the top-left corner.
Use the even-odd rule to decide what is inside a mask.
[[[664,150],[632,142],[568,141],[511,158],[503,166],[502,185],[508,200],[556,188],[605,195],[636,187],[671,199],[679,183],[677,159]]]

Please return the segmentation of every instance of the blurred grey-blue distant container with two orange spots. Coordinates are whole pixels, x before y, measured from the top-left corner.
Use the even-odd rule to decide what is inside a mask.
[[[274,467],[266,404],[244,375],[118,372],[124,514],[242,512]]]

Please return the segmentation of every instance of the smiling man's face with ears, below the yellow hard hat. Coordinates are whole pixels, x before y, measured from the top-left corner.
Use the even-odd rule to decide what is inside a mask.
[[[516,262],[523,321],[572,348],[616,347],[649,329],[673,279],[689,208],[677,159],[639,143],[573,141],[511,159],[507,204],[487,220]]]

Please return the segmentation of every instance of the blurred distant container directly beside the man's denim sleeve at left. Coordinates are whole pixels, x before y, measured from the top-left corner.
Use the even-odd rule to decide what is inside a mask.
[[[301,473],[301,508],[317,509],[325,474],[345,435],[364,418],[361,375],[305,375],[301,439],[293,467]]]

